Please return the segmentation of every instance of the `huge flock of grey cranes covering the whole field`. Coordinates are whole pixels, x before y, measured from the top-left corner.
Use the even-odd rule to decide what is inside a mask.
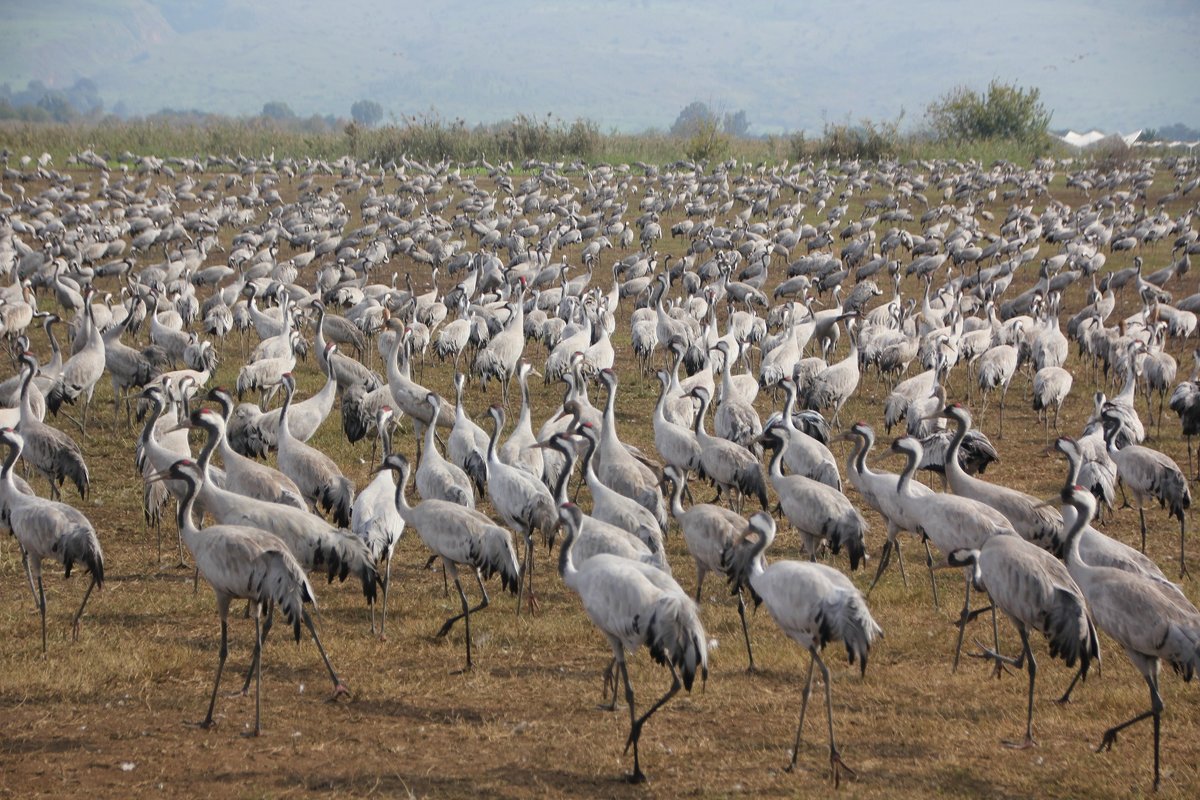
[[[79,161],[95,163],[88,154]],[[1111,640],[1144,675],[1151,708],[1104,732],[1102,747],[1152,718],[1158,787],[1159,662],[1190,679],[1200,612],[1145,555],[1146,506],[1157,501],[1177,518],[1184,578],[1200,383],[1193,374],[1176,384],[1171,351],[1196,332],[1200,294],[1187,287],[1200,247],[1187,192],[1171,207],[1156,204],[1156,192],[1188,181],[1194,161],[1076,169],[1067,182],[1081,193],[1078,207],[1055,198],[1063,167],[1051,161],[576,166],[574,179],[564,166],[530,164],[521,179],[511,167],[475,166],[486,180],[408,160],[212,158],[209,169],[227,170],[224,180],[176,174],[151,157],[119,173],[5,172],[20,191],[0,194],[0,335],[16,369],[0,385],[0,522],[20,546],[43,651],[43,561],[90,576],[77,636],[104,581],[106,533],[61,498],[61,486],[86,497],[88,432],[132,426],[137,407],[137,452],[104,469],[142,479],[160,553],[174,505],[180,563],[216,593],[221,644],[205,727],[234,600],[254,618],[246,686],[257,687],[256,733],[276,612],[296,639],[301,627],[310,632],[334,698],[347,694],[336,643],[326,655],[310,612],[308,576],[353,576],[370,630],[383,637],[392,557],[410,529],[458,595],[461,612],[438,636],[462,620],[468,670],[487,582],[499,577],[518,614],[545,613],[536,546],[559,548],[563,584],[612,651],[602,691],[612,709],[624,690],[634,781],[644,780],[638,742],[650,716],[697,678],[719,674],[704,628],[714,603],[702,587],[709,573],[724,578],[751,672],[748,597],[808,651],[788,769],[820,672],[838,783],[853,771],[834,735],[822,652],[841,643],[865,674],[883,636],[868,597],[893,559],[907,585],[900,534],[908,533],[924,545],[935,607],[935,570],[965,576],[952,668],[971,622],[990,612],[992,646],[972,655],[997,672],[1027,669],[1015,746],[1036,745],[1031,634],[1078,664],[1064,697]],[[284,186],[294,200],[282,199]],[[667,215],[682,221],[664,230]],[[667,233],[679,241],[668,247]],[[1106,255],[1130,240],[1134,266],[1106,270]],[[1166,266],[1144,276],[1144,258]],[[878,282],[893,285],[890,297]],[[55,325],[66,329],[65,348]],[[44,362],[30,338],[38,327],[50,348]],[[308,365],[324,383],[300,397],[296,374]],[[106,373],[112,422],[89,411]],[[1082,416],[1072,407],[1093,409],[1078,435],[1055,443],[1068,471],[1054,503],[979,476],[1001,455],[1034,455],[1006,446],[1010,389],[1042,416],[1048,439],[1064,405],[1068,420]],[[637,393],[622,403],[637,408],[635,419],[618,417],[618,390]],[[473,419],[468,391],[491,403],[487,425]],[[986,417],[997,391],[992,443],[967,407]],[[1162,450],[1174,435],[1163,425],[1168,393],[1188,438],[1187,474]],[[344,452],[328,445],[335,407],[350,444],[376,443],[364,486],[343,471],[349,462],[331,457]],[[850,422],[845,413],[875,419]],[[397,447],[404,425],[413,456]],[[905,468],[876,471],[868,463],[876,429],[898,426],[890,451]],[[840,469],[832,447],[842,441]],[[32,483],[14,471],[18,461]],[[930,486],[917,479],[922,470],[937,474]],[[715,491],[709,501],[704,483]],[[1132,536],[1118,493],[1138,507],[1140,548],[1120,541]],[[883,536],[872,531],[877,517]],[[780,539],[796,533],[787,546],[799,560],[776,558],[784,523]],[[692,591],[667,558],[677,530],[695,564]],[[878,566],[864,588],[851,576],[870,558]],[[539,571],[540,587],[553,571]],[[972,591],[989,604],[972,608]],[[1003,652],[1000,614],[1020,637],[1016,655]],[[642,645],[671,686],[637,715],[628,658]]]

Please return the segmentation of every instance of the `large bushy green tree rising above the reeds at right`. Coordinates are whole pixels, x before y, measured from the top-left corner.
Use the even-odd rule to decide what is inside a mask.
[[[1040,95],[1037,88],[998,80],[988,85],[985,95],[959,86],[930,103],[926,118],[942,139],[1037,142],[1045,138],[1051,116]]]

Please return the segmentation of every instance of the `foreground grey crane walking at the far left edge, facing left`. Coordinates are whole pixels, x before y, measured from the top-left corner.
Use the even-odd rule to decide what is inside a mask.
[[[79,618],[91,590],[104,585],[104,554],[96,529],[88,517],[65,503],[46,500],[25,493],[16,482],[12,468],[25,446],[24,438],[12,428],[0,429],[0,444],[8,447],[0,468],[0,516],[20,545],[20,560],[25,566],[34,602],[42,616],[42,652],[46,652],[46,588],[42,585],[42,561],[60,561],[67,578],[78,563],[91,575],[91,583],[83,595],[79,610],[71,619],[72,638],[79,638]],[[25,487],[28,488],[28,487]]]

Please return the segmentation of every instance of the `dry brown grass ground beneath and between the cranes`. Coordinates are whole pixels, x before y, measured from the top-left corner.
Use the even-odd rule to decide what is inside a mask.
[[[30,194],[35,188],[29,187]],[[1154,194],[1169,188],[1157,186]],[[1056,197],[1073,205],[1082,201],[1061,190]],[[857,215],[860,201],[856,199],[851,215]],[[664,229],[672,222],[664,218]],[[664,251],[683,247],[670,241],[661,245]],[[281,258],[286,255],[287,248]],[[1146,255],[1148,266],[1168,258],[1165,248]],[[1110,259],[1114,267],[1124,263],[1123,257]],[[408,266],[392,263],[394,269]],[[427,284],[424,270],[414,275],[419,276],[418,287]],[[601,273],[598,278],[606,283]],[[1030,279],[1027,273],[1013,291]],[[1082,287],[1074,287],[1066,307],[1078,308],[1082,291]],[[618,344],[628,345],[628,320],[626,309],[619,315]],[[44,351],[40,339],[38,344]],[[236,342],[227,342],[223,350],[220,377],[232,383],[239,348]],[[1190,363],[1184,355],[1190,343],[1172,343],[1171,350],[1181,365]],[[628,347],[618,353],[618,373],[624,378],[618,401],[622,435],[652,449],[646,419],[656,387],[636,378]],[[533,347],[529,355],[535,363],[544,357]],[[1074,354],[1070,365],[1080,367]],[[322,380],[311,361],[298,372],[302,373],[301,393],[313,391]],[[1091,410],[1093,390],[1087,371],[1075,372],[1075,387],[1063,411],[1063,429],[1069,432],[1080,429]],[[419,378],[452,396],[448,368],[430,365]],[[964,396],[962,380],[961,374],[954,377],[953,397]],[[1022,398],[1024,380],[1015,384],[1009,395],[1008,435],[997,443],[1003,461],[988,471],[988,479],[1046,497],[1057,488],[1062,463],[1043,455],[1045,438]],[[540,422],[559,393],[557,387],[536,389],[534,419]],[[492,390],[485,397],[473,389],[472,409],[480,410],[497,399],[498,387]],[[845,419],[860,417],[880,426],[884,395],[874,377],[864,379]],[[78,643],[70,640],[67,631],[84,582],[64,582],[60,575],[48,578],[50,645],[43,658],[18,549],[6,541],[0,551],[0,625],[8,633],[8,644],[0,650],[0,764],[5,775],[0,796],[158,793],[276,798],[307,792],[330,796],[776,796],[829,790],[820,687],[806,722],[799,769],[791,775],[781,769],[794,733],[806,655],[785,639],[766,614],[758,614],[751,634],[763,669],[748,675],[734,604],[715,579],[709,578],[702,602],[714,644],[712,676],[703,691],[697,688],[671,702],[648,726],[643,760],[650,783],[635,788],[619,780],[630,766],[620,750],[628,729],[624,711],[595,710],[607,648],[586,621],[577,599],[551,576],[544,551],[538,553],[541,613],[517,618],[514,601],[493,593],[492,607],[479,614],[473,626],[476,669],[452,675],[463,661],[462,628],[456,627],[445,640],[434,639],[433,633],[457,610],[457,601],[443,594],[439,575],[420,569],[426,552],[410,533],[394,561],[386,642],[367,634],[367,613],[356,589],[318,585],[323,638],[354,692],[353,699],[324,703],[329,685],[316,648],[310,642],[295,646],[277,632],[264,661],[264,735],[240,736],[252,724],[252,700],[224,692],[238,688],[253,627],[238,618],[230,626],[230,656],[217,706],[220,724],[211,730],[187,726],[186,721],[203,716],[216,662],[212,597],[204,587],[193,594],[191,573],[169,566],[173,525],[168,527],[163,561],[157,563],[155,536],[142,525],[140,485],[132,463],[134,433],[124,423],[113,427],[108,402],[109,389],[102,381],[94,417],[100,423],[82,441],[94,477],[94,494],[84,507],[106,548],[108,584],[90,602]],[[758,404],[766,413],[770,398],[763,397]],[[984,427],[995,434],[992,414]],[[1177,432],[1177,422],[1169,420],[1153,445],[1186,463]],[[366,483],[370,445],[346,444],[336,409],[314,441],[359,486]],[[413,455],[409,434],[397,437],[397,445]],[[44,491],[44,486],[38,488]],[[707,500],[708,489],[697,491],[697,497]],[[1174,573],[1176,528],[1158,510],[1147,516],[1150,553]],[[883,525],[874,512],[868,517],[870,551],[877,553]],[[1105,529],[1135,545],[1136,525],[1136,513],[1124,510]],[[1104,728],[1147,704],[1144,684],[1114,643],[1102,642],[1103,674],[1078,690],[1070,705],[1058,706],[1052,698],[1061,693],[1070,672],[1052,663],[1045,645],[1036,642],[1042,669],[1034,729],[1040,747],[1004,750],[1000,740],[1019,736],[1024,724],[1026,679],[991,680],[989,666],[971,658],[958,674],[950,673],[952,622],[961,577],[950,572],[940,576],[943,608],[935,612],[919,548],[911,539],[904,543],[908,587],[892,571],[870,599],[886,638],[872,651],[865,679],[846,668],[840,650],[828,652],[839,744],[846,762],[858,771],[857,780],[842,784],[846,795],[1148,793],[1148,723],[1122,734],[1112,752],[1093,753]],[[677,577],[685,589],[692,589],[695,573],[682,539],[673,534],[668,548]],[[799,557],[796,537],[786,527],[772,555]],[[854,576],[859,585],[865,588],[870,577],[865,572],[874,566],[872,561]],[[1198,569],[1193,560],[1193,571]],[[1186,590],[1193,600],[1200,597],[1194,581]],[[983,631],[978,627],[974,632],[982,637]],[[1001,636],[1004,649],[1015,651],[1016,636],[1004,624]],[[644,654],[634,660],[631,676],[640,704],[667,685],[666,673]],[[1200,702],[1192,686],[1169,673],[1164,674],[1163,690],[1162,794],[1193,796],[1200,786]]]

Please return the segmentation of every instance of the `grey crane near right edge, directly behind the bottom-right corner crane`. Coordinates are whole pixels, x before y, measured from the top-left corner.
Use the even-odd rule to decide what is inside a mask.
[[[1188,573],[1184,561],[1183,539],[1187,534],[1187,515],[1192,506],[1192,491],[1183,470],[1170,456],[1141,445],[1117,447],[1117,433],[1121,431],[1121,417],[1109,405],[1100,413],[1104,423],[1104,443],[1109,457],[1117,465],[1117,476],[1133,494],[1138,504],[1138,521],[1141,524],[1141,552],[1146,552],[1146,500],[1158,500],[1168,511],[1168,516],[1180,521],[1180,577]]]

